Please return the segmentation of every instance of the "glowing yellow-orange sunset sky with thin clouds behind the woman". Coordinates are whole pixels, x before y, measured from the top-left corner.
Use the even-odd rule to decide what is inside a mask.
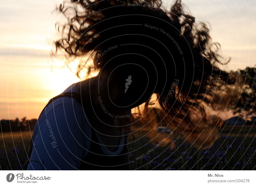
[[[44,105],[80,81],[61,60],[50,58],[62,0],[0,0],[0,119],[38,118]],[[173,1],[165,1],[171,4]],[[196,21],[209,21],[227,69],[256,65],[255,0],[184,0]]]

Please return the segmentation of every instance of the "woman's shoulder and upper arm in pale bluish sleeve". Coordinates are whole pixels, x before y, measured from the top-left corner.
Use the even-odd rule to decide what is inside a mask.
[[[30,159],[44,159],[45,169],[49,170],[78,169],[88,154],[91,138],[91,126],[82,105],[71,97],[57,98],[36,122]]]

